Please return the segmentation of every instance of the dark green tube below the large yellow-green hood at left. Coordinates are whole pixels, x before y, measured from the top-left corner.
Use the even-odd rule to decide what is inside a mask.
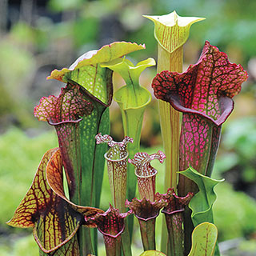
[[[96,105],[96,104],[95,104]],[[93,112],[90,116],[84,118],[81,122],[81,203],[82,206],[99,206],[100,194],[102,189],[102,177],[105,165],[104,152],[107,145],[96,146],[95,135],[99,132],[108,134],[110,132],[109,110],[105,106],[98,104],[98,111]],[[86,231],[79,240],[85,245],[86,252],[97,254],[97,232],[94,231],[93,238],[91,232]],[[85,243],[82,240],[86,240]],[[91,244],[91,242],[93,244]],[[94,248],[94,250],[92,250]]]

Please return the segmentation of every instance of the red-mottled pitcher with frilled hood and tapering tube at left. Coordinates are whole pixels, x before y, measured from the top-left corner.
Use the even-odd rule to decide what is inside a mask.
[[[54,124],[72,200],[76,200],[74,196],[78,194],[79,182],[76,179],[80,177],[78,172],[81,171],[81,162],[78,158],[80,156],[78,118],[91,114],[93,110],[93,104],[86,100],[87,96],[83,90],[78,85],[68,83],[62,88],[58,98],[44,97],[34,108],[34,115],[38,120]]]

